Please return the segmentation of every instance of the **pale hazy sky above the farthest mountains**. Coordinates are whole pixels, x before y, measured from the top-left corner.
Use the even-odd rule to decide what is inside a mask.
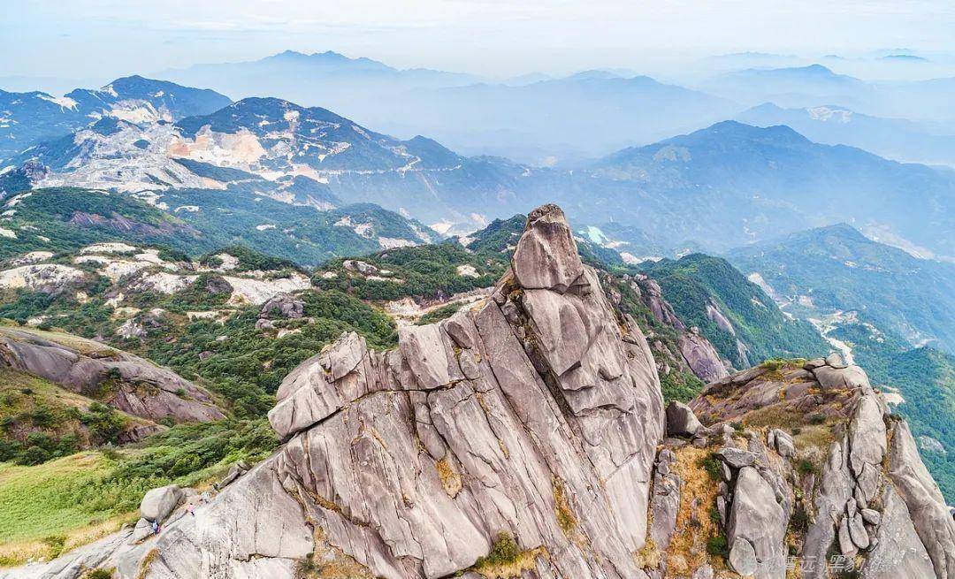
[[[0,76],[112,78],[286,49],[481,75],[704,54],[955,52],[952,0],[2,0]]]

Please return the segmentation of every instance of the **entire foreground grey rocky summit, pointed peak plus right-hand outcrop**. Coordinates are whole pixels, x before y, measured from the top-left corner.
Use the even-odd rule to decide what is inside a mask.
[[[6,577],[783,579],[788,554],[824,577],[835,552],[955,578],[955,521],[859,367],[775,360],[665,410],[601,281],[543,205],[488,298],[386,352],[346,332],[288,374],[285,445],[210,502],[154,489],[135,529]]]

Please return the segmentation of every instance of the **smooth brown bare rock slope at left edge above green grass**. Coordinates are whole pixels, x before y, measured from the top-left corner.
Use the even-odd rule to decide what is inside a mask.
[[[46,378],[84,396],[102,399],[140,418],[171,417],[178,421],[224,418],[212,397],[199,386],[136,355],[92,340],[3,328],[0,329],[0,364]]]

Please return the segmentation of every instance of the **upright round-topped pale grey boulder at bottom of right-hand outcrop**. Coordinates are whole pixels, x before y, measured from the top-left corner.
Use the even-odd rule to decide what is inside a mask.
[[[732,506],[727,524],[727,540],[732,551],[742,549],[740,555],[748,554],[746,545],[752,546],[756,567],[753,570],[736,568],[740,573],[756,577],[784,577],[786,551],[783,537],[789,520],[783,508],[776,502],[773,487],[752,466],[744,466],[736,476],[733,487]],[[746,558],[741,561],[747,560]]]

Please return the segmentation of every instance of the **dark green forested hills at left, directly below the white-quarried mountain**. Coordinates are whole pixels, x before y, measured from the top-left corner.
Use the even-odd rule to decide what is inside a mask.
[[[353,204],[319,211],[307,204],[271,199],[263,194],[263,186],[269,189],[275,185],[253,180],[232,183],[226,190],[170,190],[162,198],[169,211],[130,195],[75,187],[35,189],[14,198],[18,200],[16,212],[4,227],[16,232],[16,238],[4,238],[0,261],[33,250],[59,252],[96,242],[121,241],[171,247],[190,255],[238,245],[314,266],[335,257],[380,249],[376,237],[336,224],[365,225],[373,235],[414,242],[429,231],[425,225],[377,205]],[[293,194],[296,186],[289,185],[284,193]],[[313,197],[309,193],[308,199]],[[175,207],[190,210],[177,212],[172,209]],[[260,225],[272,227],[260,229]]]

